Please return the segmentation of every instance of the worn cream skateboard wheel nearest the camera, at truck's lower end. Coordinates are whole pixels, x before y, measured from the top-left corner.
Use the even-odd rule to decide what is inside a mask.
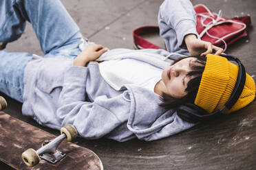
[[[22,153],[22,160],[28,167],[34,167],[40,162],[39,154],[32,148],[27,149]]]

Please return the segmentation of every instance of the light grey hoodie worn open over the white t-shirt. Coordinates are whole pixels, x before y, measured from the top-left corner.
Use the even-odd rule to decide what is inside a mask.
[[[180,47],[186,34],[197,34],[190,1],[164,1],[158,19],[167,49],[188,54]],[[140,55],[141,52],[149,53],[149,57]],[[158,57],[151,57],[150,53]],[[164,69],[179,58],[170,56],[164,60],[169,54],[162,49],[113,49],[99,60],[111,60],[113,56],[136,58]],[[58,54],[54,58],[34,57],[28,63],[24,74],[23,114],[58,130],[71,123],[83,138],[104,136],[116,141],[136,137],[153,141],[193,126],[182,121],[176,110],[158,106],[160,96],[152,91],[125,85],[115,90],[100,75],[97,62],[90,62],[86,67],[72,64],[73,60]]]

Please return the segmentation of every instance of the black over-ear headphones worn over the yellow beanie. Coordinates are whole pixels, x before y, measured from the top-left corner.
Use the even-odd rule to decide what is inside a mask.
[[[220,117],[220,115],[224,114],[227,110],[230,110],[237,99],[239,99],[242,90],[244,89],[244,84],[246,82],[246,71],[244,69],[244,65],[240,62],[240,60],[232,55],[221,54],[220,56],[227,58],[228,60],[237,62],[239,66],[239,71],[237,75],[237,82],[235,83],[235,87],[233,92],[231,93],[231,97],[229,97],[228,101],[224,105],[224,107],[220,110],[216,110],[209,114],[203,108],[191,103],[182,104],[177,108],[178,116],[187,122],[190,123],[198,123],[200,121],[208,121],[213,120],[216,117]]]

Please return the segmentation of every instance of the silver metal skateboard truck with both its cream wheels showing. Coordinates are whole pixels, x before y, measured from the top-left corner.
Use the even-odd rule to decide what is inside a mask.
[[[45,141],[43,146],[36,151],[32,148],[27,149],[22,154],[22,159],[28,167],[34,167],[41,159],[55,164],[65,157],[65,154],[57,150],[58,145],[67,138],[70,142],[77,136],[76,128],[72,125],[65,125],[61,127],[61,135],[54,138],[52,141]]]

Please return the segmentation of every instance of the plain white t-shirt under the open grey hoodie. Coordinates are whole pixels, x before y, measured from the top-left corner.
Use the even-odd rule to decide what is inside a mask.
[[[162,69],[136,59],[109,60],[99,65],[100,73],[111,75],[108,76],[110,79],[118,80],[118,84],[122,85],[134,84],[154,91],[161,80]]]

